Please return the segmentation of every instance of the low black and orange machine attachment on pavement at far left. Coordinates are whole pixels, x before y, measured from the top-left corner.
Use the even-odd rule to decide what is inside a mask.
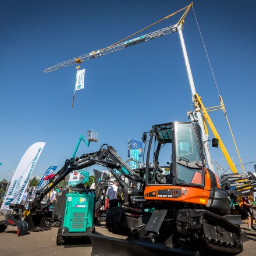
[[[4,232],[7,226],[16,226],[18,236],[26,235],[28,225],[26,221],[22,221],[22,210],[24,205],[10,204],[9,208],[12,209],[12,211],[9,210],[3,221],[0,221],[0,233]]]

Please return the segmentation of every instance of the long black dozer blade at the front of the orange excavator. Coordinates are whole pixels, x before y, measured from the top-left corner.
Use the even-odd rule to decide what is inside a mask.
[[[187,251],[179,248],[170,248],[157,243],[144,243],[142,241],[128,241],[114,237],[90,234],[92,243],[92,256],[199,256],[198,251]]]

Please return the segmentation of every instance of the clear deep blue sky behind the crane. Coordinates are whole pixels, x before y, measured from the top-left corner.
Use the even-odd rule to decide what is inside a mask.
[[[187,122],[186,112],[192,109],[192,101],[177,33],[83,63],[85,88],[76,92],[73,108],[76,66],[51,73],[42,70],[108,47],[189,3],[0,1],[0,180],[10,181],[24,152],[38,141],[46,144],[33,176],[42,177],[49,166],[58,165],[60,169],[72,157],[80,134],[87,137],[87,130],[98,131],[99,141],[90,147],[81,144],[78,156],[107,143],[126,160],[129,138],[141,140],[143,131],[157,123]],[[194,1],[244,163],[256,161],[255,8],[254,0]],[[178,14],[139,35],[171,26],[179,18]],[[197,93],[205,106],[219,105],[193,10],[186,17],[183,35]],[[223,112],[210,115],[238,164]],[[220,149],[212,148],[211,155],[214,162],[228,168]],[[254,164],[244,165],[245,170],[254,171]],[[91,174],[93,168],[88,169]]]

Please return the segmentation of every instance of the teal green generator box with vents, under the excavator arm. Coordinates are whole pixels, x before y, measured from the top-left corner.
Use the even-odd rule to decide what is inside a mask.
[[[89,234],[95,230],[95,190],[71,188],[66,190],[63,200],[63,218],[57,234],[57,246],[70,243],[71,239],[72,243],[84,239],[86,244],[91,244]]]

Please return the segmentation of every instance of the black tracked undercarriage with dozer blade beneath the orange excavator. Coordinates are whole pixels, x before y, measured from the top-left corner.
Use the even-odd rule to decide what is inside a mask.
[[[133,212],[136,219],[134,223],[140,226],[132,226],[126,240],[110,237],[99,239],[92,236],[93,254],[105,255],[108,246],[115,244],[121,255],[132,255],[131,251],[144,250],[147,255],[153,255],[153,248],[161,255],[204,255],[221,254],[237,255],[243,251],[243,241],[246,241],[246,232],[240,232],[239,225],[233,225],[222,216],[213,214],[204,209],[180,209],[176,215],[172,215],[166,209],[155,210],[150,216],[140,214],[140,211],[127,209],[113,209],[112,214],[107,216],[106,226],[110,232],[128,235],[131,216]],[[147,216],[146,223],[143,218]],[[125,224],[125,226],[123,226]],[[110,227],[110,228],[109,228]],[[98,242],[106,240],[102,251],[98,248]],[[94,248],[97,247],[97,252]],[[136,249],[137,248],[137,249]],[[99,251],[98,251],[99,250]],[[104,250],[104,251],[103,251]],[[109,250],[113,250],[109,248]],[[120,253],[120,251],[119,251]]]

